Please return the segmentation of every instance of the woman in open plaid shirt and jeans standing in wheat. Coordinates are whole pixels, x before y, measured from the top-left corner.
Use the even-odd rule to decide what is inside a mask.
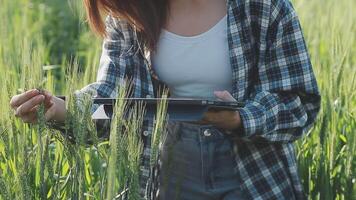
[[[122,78],[131,77],[134,97],[156,97],[163,84],[171,97],[245,102],[238,112],[209,111],[197,123],[170,122],[160,169],[168,173],[169,162],[177,168],[167,182],[149,169],[152,123],[145,124],[142,196],[172,199],[182,181],[182,199],[305,198],[293,142],[314,124],[321,97],[288,0],[84,2],[104,43],[97,82],[76,91],[78,99],[115,97]],[[35,123],[43,101],[47,120],[65,119],[64,102],[49,92],[28,91],[10,104]]]

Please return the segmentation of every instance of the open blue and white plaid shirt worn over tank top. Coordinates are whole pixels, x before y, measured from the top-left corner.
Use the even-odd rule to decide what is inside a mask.
[[[313,126],[321,96],[296,12],[288,0],[227,0],[232,96],[245,102],[243,127],[231,131],[236,169],[246,199],[305,199],[293,141]],[[133,97],[156,97],[159,80],[134,27],[108,16],[97,81],[81,90],[116,97],[131,77]],[[202,56],[202,59],[204,57]],[[98,105],[94,105],[93,111]],[[141,195],[153,198],[150,169],[153,121],[145,121]]]

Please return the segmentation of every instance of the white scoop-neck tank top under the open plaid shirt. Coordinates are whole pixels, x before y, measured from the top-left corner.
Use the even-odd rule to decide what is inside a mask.
[[[152,66],[169,87],[171,97],[217,100],[214,90],[231,93],[226,18],[191,37],[162,30]]]

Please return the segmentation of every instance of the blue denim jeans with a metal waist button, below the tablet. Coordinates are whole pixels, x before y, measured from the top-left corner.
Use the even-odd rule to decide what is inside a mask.
[[[232,141],[221,129],[169,121],[162,138],[158,199],[242,199]]]

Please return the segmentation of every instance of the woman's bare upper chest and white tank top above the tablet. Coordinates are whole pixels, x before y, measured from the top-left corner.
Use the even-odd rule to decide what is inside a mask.
[[[151,59],[170,97],[216,99],[214,90],[231,92],[226,1],[172,0],[169,9]]]

